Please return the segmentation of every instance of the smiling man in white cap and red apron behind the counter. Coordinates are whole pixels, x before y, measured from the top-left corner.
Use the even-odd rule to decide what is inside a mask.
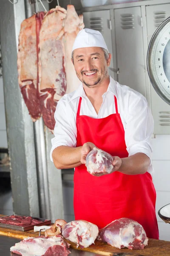
[[[75,168],[75,220],[102,228],[130,218],[144,227],[149,238],[159,239],[153,117],[147,100],[109,76],[111,54],[99,31],[78,33],[71,60],[81,83],[57,104],[51,160],[57,169]],[[110,174],[97,177],[87,172],[86,157],[94,147],[113,157]]]

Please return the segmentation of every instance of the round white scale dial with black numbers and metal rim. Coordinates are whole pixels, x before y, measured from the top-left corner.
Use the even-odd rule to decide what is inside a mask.
[[[170,105],[170,17],[156,29],[150,40],[147,71],[156,92]]]

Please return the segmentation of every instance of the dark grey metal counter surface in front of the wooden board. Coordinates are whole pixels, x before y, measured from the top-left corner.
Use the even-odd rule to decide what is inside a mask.
[[[19,243],[20,239],[11,238],[8,236],[0,236],[0,256],[17,256],[18,254],[11,253],[10,247],[15,245],[16,243]],[[96,253],[89,253],[85,251],[80,250],[74,250],[72,248],[69,248],[71,251],[71,256],[98,256],[100,254]]]

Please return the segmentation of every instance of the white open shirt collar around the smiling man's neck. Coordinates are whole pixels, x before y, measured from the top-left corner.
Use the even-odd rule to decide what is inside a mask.
[[[110,83],[109,83],[109,86],[108,86],[108,90],[103,95],[105,95],[108,92],[111,92],[117,98],[116,81],[111,76],[109,76],[109,77],[110,77]],[[73,96],[71,97],[71,99],[69,100],[69,102],[71,102],[73,99],[76,99],[78,97],[82,97],[84,99],[86,98],[85,91],[84,91],[82,83],[79,85],[77,90],[75,90],[75,92],[74,92]]]

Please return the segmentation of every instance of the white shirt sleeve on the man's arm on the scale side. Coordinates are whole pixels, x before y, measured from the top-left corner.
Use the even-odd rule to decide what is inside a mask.
[[[152,161],[151,138],[153,134],[153,116],[144,96],[130,96],[128,106],[125,143],[129,156],[136,153],[144,153]]]

